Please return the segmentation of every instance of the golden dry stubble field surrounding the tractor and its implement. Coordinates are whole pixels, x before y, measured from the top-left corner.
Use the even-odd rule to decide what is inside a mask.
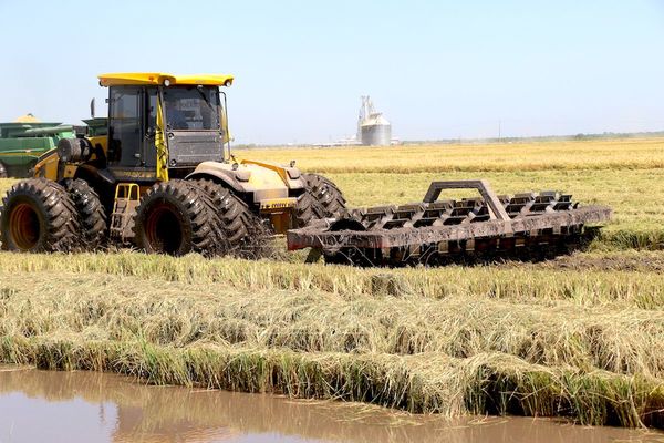
[[[412,269],[112,254],[0,254],[0,361],[412,412],[664,426],[664,138],[251,150],[351,205],[440,178],[614,208],[587,253]],[[0,188],[11,185],[0,181]]]

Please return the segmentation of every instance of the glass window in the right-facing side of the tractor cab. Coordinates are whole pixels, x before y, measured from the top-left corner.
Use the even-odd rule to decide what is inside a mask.
[[[164,89],[166,125],[174,131],[216,131],[219,125],[219,92],[216,87]]]

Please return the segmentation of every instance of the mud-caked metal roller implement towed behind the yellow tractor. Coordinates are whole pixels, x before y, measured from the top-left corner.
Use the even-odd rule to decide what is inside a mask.
[[[445,189],[476,189],[477,198],[439,200]],[[460,257],[537,258],[568,251],[585,226],[608,220],[604,206],[579,206],[558,192],[496,195],[486,181],[430,184],[422,203],[351,209],[288,231],[290,250],[359,266],[445,264]]]

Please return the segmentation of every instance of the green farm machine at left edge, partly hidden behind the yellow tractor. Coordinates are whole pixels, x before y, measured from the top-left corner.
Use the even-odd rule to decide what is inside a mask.
[[[73,126],[40,122],[32,114],[0,123],[0,178],[29,177],[40,155],[74,136]]]

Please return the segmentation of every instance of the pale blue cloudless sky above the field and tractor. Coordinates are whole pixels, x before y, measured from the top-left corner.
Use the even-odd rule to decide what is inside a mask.
[[[403,140],[664,130],[662,0],[0,0],[0,121],[77,123],[104,103],[96,74],[163,71],[235,74],[237,143],[351,135],[362,94]]]

